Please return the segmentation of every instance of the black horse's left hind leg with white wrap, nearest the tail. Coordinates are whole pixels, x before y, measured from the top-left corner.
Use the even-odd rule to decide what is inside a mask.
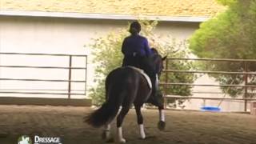
[[[129,110],[130,110],[130,106],[122,106],[122,110],[118,114],[118,118],[117,118],[118,142],[122,142],[122,143],[126,142],[126,139],[122,137],[122,122],[123,122],[123,118],[125,118]]]

